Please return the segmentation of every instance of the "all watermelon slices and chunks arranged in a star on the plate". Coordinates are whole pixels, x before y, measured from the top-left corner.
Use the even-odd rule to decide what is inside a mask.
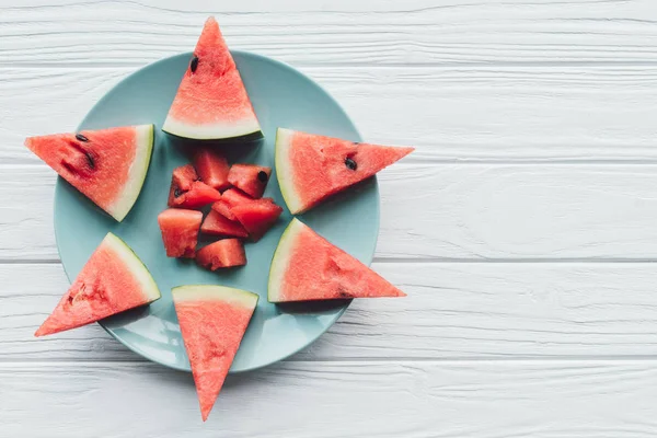
[[[214,18],[208,19],[162,130],[184,139],[187,163],[170,176],[157,218],[161,253],[194,260],[216,280],[178,285],[173,309],[206,420],[257,314],[262,291],[227,286],[223,275],[249,264],[249,245],[284,217],[266,277],[266,302],[318,302],[404,293],[357,257],[304,223],[303,215],[372,177],[413,151],[278,127],[267,165],[232,160],[228,149],[262,138],[240,71]],[[228,141],[228,143],[226,143]],[[138,201],[155,145],[153,124],[31,137],[25,146],[80,194],[122,222]],[[274,168],[274,169],[273,169]],[[275,180],[284,201],[266,196]],[[319,209],[318,209],[319,210]],[[285,212],[285,215],[284,215]],[[291,215],[291,216],[290,216]],[[131,215],[134,216],[134,215]],[[266,239],[265,239],[266,240]],[[161,298],[137,251],[107,232],[36,336],[79,327],[143,308]],[[102,322],[102,321],[101,321]]]

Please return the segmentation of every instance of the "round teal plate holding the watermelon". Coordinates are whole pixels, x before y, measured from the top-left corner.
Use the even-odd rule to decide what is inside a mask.
[[[132,210],[116,222],[62,178],[55,191],[55,234],[59,255],[72,280],[108,231],[130,245],[149,268],[162,298],[149,307],[101,321],[115,338],[137,354],[171,368],[189,370],[171,288],[180,285],[224,285],[250,290],[261,299],[231,372],[264,367],[315,341],[346,310],[349,301],[276,306],[267,301],[272,256],[291,219],[286,209],[278,224],[260,242],[245,244],[247,265],[209,272],[194,261],[166,257],[157,216],[166,208],[171,173],[189,162],[198,141],[182,140],[160,128],[192,54],[154,62],[114,87],[87,115],[79,129],[154,124],[155,143],[148,176]],[[311,79],[279,61],[233,53],[265,138],[250,143],[217,143],[229,161],[274,166],[276,128],[360,140],[341,106]],[[265,196],[285,207],[272,176]],[[379,192],[371,178],[301,217],[316,232],[364,263],[371,263],[379,231]]]

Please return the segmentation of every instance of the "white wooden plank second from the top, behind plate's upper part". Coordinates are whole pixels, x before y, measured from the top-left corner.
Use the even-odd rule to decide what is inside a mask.
[[[0,68],[0,162],[73,130],[134,68]],[[657,73],[639,67],[303,67],[372,142],[413,162],[657,162]],[[151,120],[152,122],[152,120]]]

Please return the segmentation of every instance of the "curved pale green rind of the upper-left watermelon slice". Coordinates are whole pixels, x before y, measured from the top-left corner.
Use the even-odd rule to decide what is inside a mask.
[[[135,129],[137,147],[135,160],[128,171],[128,180],[116,201],[107,208],[107,212],[119,222],[128,215],[141,193],[153,151],[154,126],[139,125]]]

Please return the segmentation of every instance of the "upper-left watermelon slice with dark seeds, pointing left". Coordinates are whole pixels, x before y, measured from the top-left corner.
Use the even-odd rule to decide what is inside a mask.
[[[30,137],[25,146],[120,222],[146,180],[153,125]]]

